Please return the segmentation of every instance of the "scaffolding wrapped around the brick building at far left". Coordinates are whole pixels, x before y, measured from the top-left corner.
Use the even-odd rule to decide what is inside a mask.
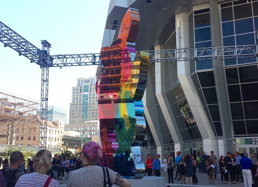
[[[37,146],[39,103],[16,93],[0,92],[0,144]]]

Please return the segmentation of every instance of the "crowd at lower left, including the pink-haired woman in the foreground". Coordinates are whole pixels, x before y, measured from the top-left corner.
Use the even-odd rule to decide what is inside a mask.
[[[22,152],[14,151],[9,160],[3,161],[0,187],[59,187],[58,180],[62,180],[65,174],[67,187],[99,187],[107,184],[130,187],[131,183],[117,172],[96,165],[101,157],[101,147],[95,142],[84,144],[78,159],[74,156],[64,159],[58,154],[52,157],[50,151],[43,149],[28,159],[27,166]]]

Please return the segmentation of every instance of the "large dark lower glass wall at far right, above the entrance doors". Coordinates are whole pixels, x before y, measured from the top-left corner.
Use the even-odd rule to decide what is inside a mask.
[[[258,135],[258,68],[226,68],[227,89],[234,135]]]

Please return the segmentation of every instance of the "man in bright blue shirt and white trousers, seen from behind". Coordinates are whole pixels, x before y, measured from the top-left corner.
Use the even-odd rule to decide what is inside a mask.
[[[252,161],[248,158],[248,153],[244,153],[244,158],[240,160],[240,165],[242,167],[242,173],[244,178],[245,187],[252,187]]]

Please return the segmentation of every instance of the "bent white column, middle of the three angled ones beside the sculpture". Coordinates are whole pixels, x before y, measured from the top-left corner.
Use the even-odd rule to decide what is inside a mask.
[[[163,45],[155,46],[155,50],[162,49],[164,49]],[[166,62],[155,62],[156,97],[158,103],[160,104],[160,108],[166,120],[172,139],[174,143],[177,144],[177,149],[181,151],[183,150],[183,139],[166,95],[165,63]]]

